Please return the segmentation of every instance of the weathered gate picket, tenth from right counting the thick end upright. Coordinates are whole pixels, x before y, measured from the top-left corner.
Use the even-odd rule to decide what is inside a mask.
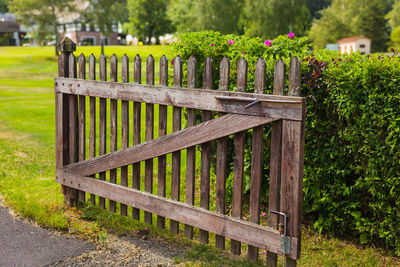
[[[150,55],[146,61],[146,84],[154,85],[154,58]],[[154,135],[154,105],[146,104],[146,141],[153,139]],[[153,159],[145,161],[144,190],[153,193]],[[144,222],[153,223],[151,213],[145,211]]]

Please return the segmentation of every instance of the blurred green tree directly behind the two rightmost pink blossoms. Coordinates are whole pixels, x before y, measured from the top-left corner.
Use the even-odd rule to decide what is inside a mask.
[[[246,0],[244,18],[245,33],[263,38],[302,35],[311,22],[306,0]]]

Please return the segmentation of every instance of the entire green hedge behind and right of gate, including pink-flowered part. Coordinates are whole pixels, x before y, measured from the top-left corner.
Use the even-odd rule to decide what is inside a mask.
[[[234,43],[233,43],[233,42]],[[304,172],[305,221],[320,232],[361,243],[394,248],[400,255],[400,59],[398,55],[365,56],[357,53],[312,52],[306,38],[260,38],[186,33],[172,45],[184,62],[194,55],[199,63],[231,60],[231,90],[235,89],[236,62],[249,63],[248,91],[254,89],[254,66],[267,62],[266,93],[272,92],[273,67],[278,58],[288,64],[302,60],[302,95],[307,97]],[[184,66],[184,71],[186,66]],[[200,85],[201,83],[199,83]],[[215,86],[218,76],[215,75]],[[265,141],[268,142],[266,127]],[[250,147],[251,140],[247,139]],[[265,151],[263,196],[267,196],[268,149]],[[232,156],[232,153],[230,153]],[[245,194],[250,181],[250,150],[246,150]],[[232,178],[232,164],[229,166]],[[231,184],[227,183],[228,193]],[[229,194],[228,194],[229,197]],[[267,198],[264,199],[267,201]]]

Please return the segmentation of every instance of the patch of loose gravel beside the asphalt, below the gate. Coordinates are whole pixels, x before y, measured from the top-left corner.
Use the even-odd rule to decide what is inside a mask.
[[[147,236],[111,235],[96,250],[49,266],[175,266],[173,258],[185,252],[182,245]]]

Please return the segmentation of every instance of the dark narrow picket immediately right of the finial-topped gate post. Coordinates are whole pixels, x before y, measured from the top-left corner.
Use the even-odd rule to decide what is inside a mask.
[[[77,77],[76,58],[73,53],[69,55],[69,77]],[[69,163],[78,161],[78,138],[79,138],[79,117],[78,117],[78,96],[69,95]],[[69,190],[70,203],[74,204],[78,200],[79,192],[77,190]]]

